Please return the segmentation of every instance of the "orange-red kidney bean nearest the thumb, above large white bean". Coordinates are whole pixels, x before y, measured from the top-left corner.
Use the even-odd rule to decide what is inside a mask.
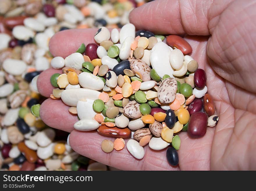
[[[166,38],[166,44],[171,47],[176,47],[182,51],[183,54],[190,54],[192,52],[192,47],[190,44],[184,40],[184,38],[178,35],[169,35]]]

